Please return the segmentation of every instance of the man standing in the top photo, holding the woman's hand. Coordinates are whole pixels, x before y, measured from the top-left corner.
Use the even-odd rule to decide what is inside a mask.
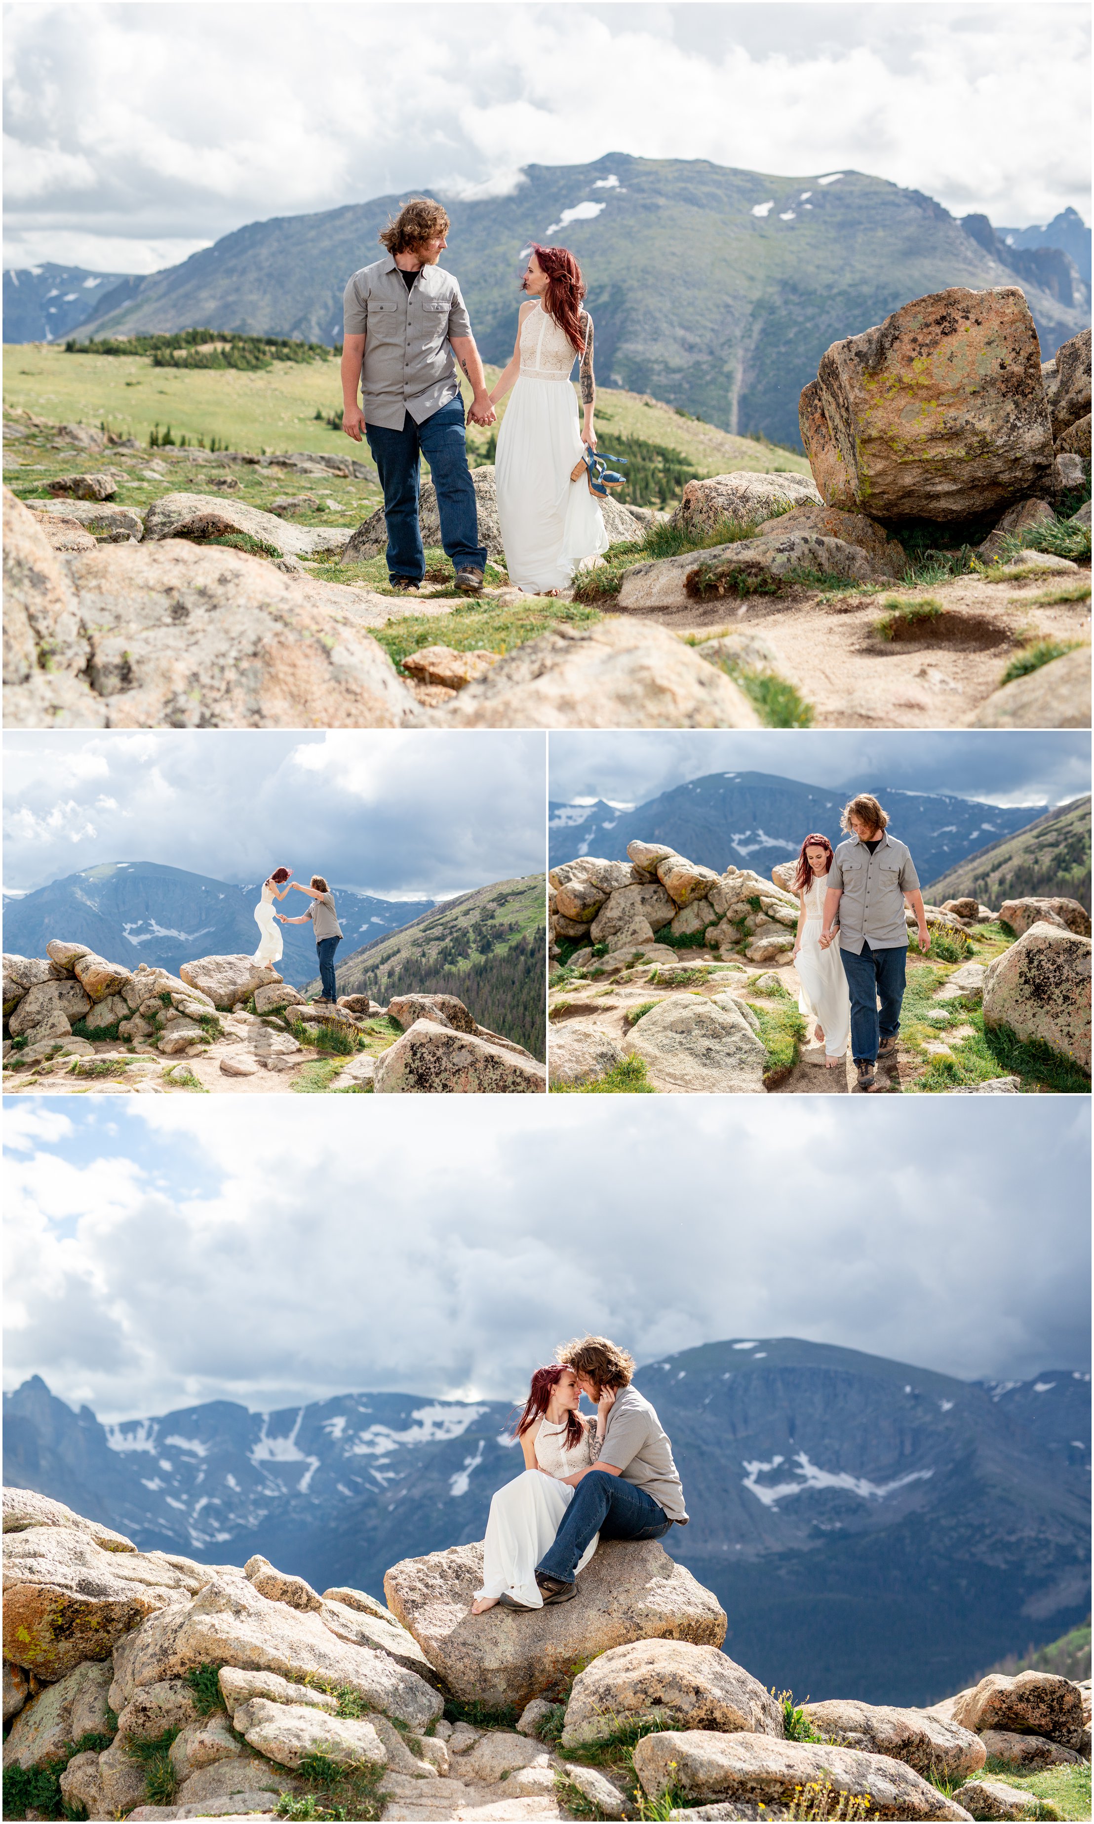
[[[487,551],[478,536],[456,361],[474,392],[470,421],[492,425],[496,412],[487,398],[487,376],[459,285],[438,266],[449,244],[447,233],[449,217],[441,204],[412,197],[379,237],[385,259],[363,266],[346,285],[343,430],[356,443],[365,432],[379,472],[392,587],[416,589],[425,576],[418,523],[419,461],[425,456],[438,491],[445,554],[458,587],[476,595],[483,586]]]

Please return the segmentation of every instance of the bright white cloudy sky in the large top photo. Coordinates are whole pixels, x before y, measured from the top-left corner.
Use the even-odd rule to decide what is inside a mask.
[[[15,0],[4,264],[153,272],[248,221],[609,151],[1089,215],[1085,4]],[[1036,18],[1036,26],[1032,20]]]

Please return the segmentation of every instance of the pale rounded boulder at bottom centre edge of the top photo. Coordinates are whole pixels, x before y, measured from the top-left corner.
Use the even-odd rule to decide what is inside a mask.
[[[461,689],[445,728],[760,728],[742,689],[655,622],[560,624]]]

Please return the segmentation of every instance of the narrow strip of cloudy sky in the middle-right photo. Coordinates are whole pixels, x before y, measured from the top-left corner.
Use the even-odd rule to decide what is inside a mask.
[[[644,804],[704,773],[755,772],[820,786],[952,792],[988,804],[1063,804],[1090,790],[1090,739],[1070,733],[875,730],[551,735],[551,797]]]

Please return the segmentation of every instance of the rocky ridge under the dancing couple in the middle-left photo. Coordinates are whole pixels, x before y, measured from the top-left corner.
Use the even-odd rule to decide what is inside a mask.
[[[447,994],[308,1001],[250,956],[204,956],[179,974],[109,963],[51,939],[44,958],[4,958],[4,1087],[13,1093],[164,1094],[292,1089],[332,1062],[321,1087],[377,1094],[536,1094],[543,1065],[480,1027]]]

